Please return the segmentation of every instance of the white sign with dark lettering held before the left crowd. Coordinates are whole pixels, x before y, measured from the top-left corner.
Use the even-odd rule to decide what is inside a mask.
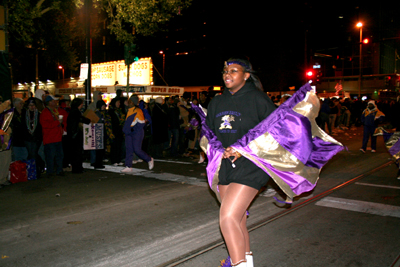
[[[83,125],[83,149],[104,149],[103,123],[91,123]]]

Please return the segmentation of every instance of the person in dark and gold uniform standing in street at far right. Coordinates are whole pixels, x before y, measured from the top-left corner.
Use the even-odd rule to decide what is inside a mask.
[[[361,123],[364,124],[363,142],[360,151],[365,153],[367,150],[368,139],[371,136],[371,152],[376,152],[376,136],[375,129],[378,123],[383,122],[385,114],[378,109],[374,100],[368,102],[367,108],[361,114]]]

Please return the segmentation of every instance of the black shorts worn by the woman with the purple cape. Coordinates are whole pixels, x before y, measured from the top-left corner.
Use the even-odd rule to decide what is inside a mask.
[[[235,161],[236,168],[232,168],[229,159],[223,159],[218,177],[220,185],[237,183],[260,190],[269,180],[269,175],[245,157]]]

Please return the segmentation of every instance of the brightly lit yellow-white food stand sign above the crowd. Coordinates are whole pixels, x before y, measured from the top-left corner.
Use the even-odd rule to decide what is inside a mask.
[[[92,86],[113,86],[115,82],[126,85],[127,66],[123,60],[92,64]],[[153,63],[151,58],[141,58],[131,64],[129,84],[151,85]]]

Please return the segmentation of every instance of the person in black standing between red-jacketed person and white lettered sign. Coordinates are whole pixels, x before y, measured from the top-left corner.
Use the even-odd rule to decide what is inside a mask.
[[[83,127],[82,123],[90,124],[90,119],[82,115],[84,101],[75,98],[71,102],[71,111],[67,118],[67,138],[71,155],[72,173],[83,173],[82,153],[83,153]]]

